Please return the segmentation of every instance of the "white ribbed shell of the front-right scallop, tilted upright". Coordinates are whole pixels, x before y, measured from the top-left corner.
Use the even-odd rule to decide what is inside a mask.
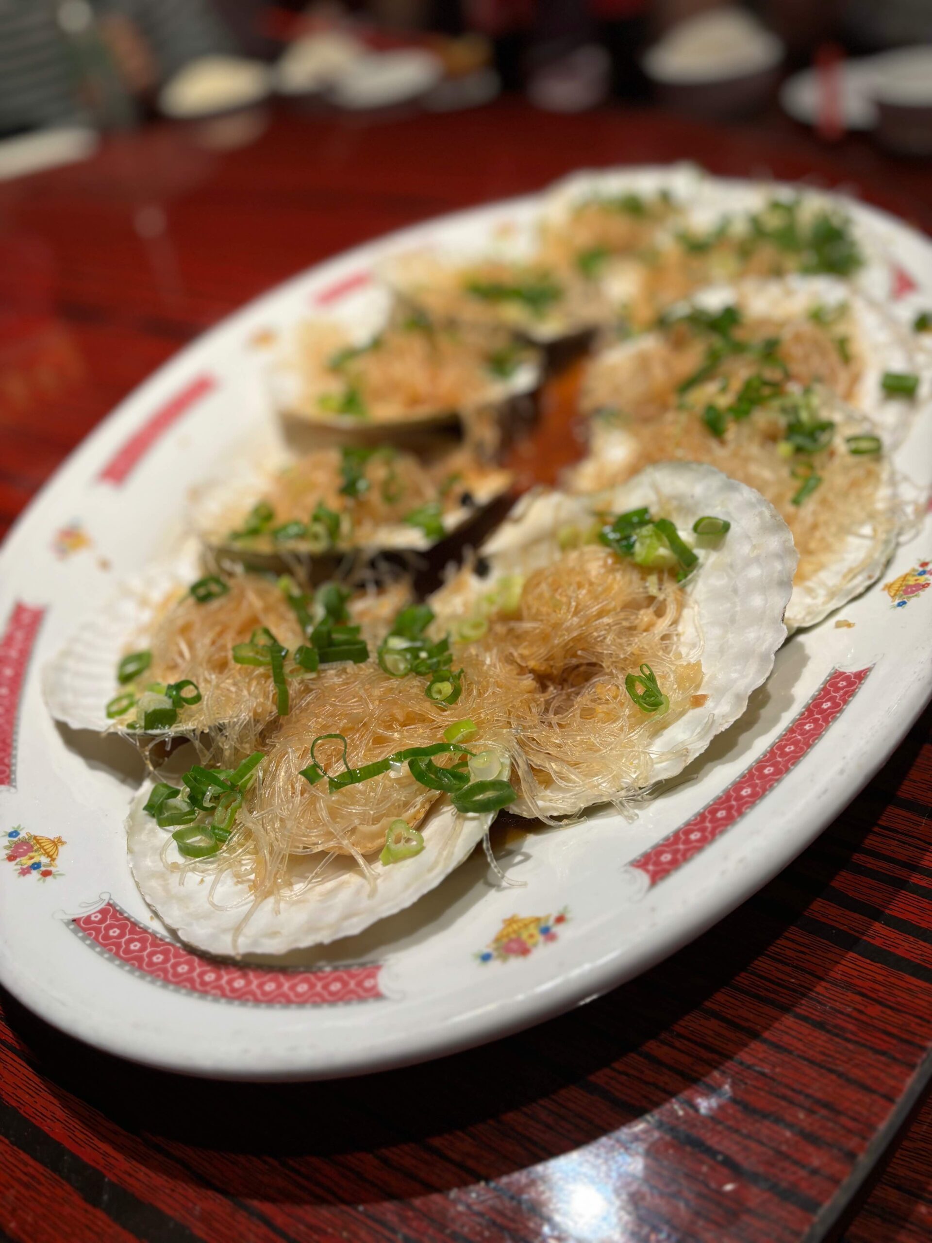
[[[691,607],[683,610],[681,635],[687,649],[701,641],[702,694],[707,697],[659,736],[651,779],[660,781],[681,772],[716,733],[736,721],[773,667],[787,636],[783,613],[797,567],[797,551],[783,518],[759,492],[712,466],[664,462],[596,496],[528,492],[480,552],[497,576],[527,574],[559,556],[562,528],[585,528],[596,512],[620,513],[640,506],[670,517],[683,532],[708,513],[732,525],[716,547],[697,548],[701,564],[686,587]],[[464,571],[442,587],[431,599],[440,620],[468,612],[488,592],[488,582]],[[623,793],[633,792],[619,791]],[[537,808],[544,814],[570,815],[595,800],[573,791],[549,802],[538,798]],[[523,799],[511,810],[538,814]]]

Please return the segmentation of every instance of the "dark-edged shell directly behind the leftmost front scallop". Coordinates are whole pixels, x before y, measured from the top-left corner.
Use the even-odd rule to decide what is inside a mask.
[[[194,512],[193,525],[204,543],[220,556],[232,556],[249,562],[262,559],[278,564],[281,562],[278,554],[314,561],[314,556],[297,542],[268,549],[260,549],[255,546],[247,548],[237,542],[229,542],[231,528],[236,527],[252,506],[267,495],[273,476],[287,465],[287,460],[267,460],[260,464],[241,465],[236,471],[230,472],[222,484],[219,484],[204,497]],[[460,505],[441,515],[445,537],[466,526],[483,508],[503,496],[512,482],[511,471],[488,467],[481,480],[471,488],[476,503],[472,506]],[[393,522],[378,527],[364,544],[339,544],[323,556],[332,562],[334,557],[358,553],[365,561],[379,552],[429,552],[439,542],[429,539],[419,527],[409,526],[406,522]]]

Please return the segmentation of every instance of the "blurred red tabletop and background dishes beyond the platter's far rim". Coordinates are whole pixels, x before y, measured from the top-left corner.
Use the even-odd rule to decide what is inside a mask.
[[[587,164],[932,213],[932,0],[0,0],[0,534],[302,267]]]

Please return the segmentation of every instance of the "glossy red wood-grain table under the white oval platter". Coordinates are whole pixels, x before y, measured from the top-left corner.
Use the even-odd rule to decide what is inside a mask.
[[[0,185],[5,525],[119,398],[246,298],[582,164],[809,178],[932,225],[928,167],[775,119],[712,129],[503,101],[379,123],[278,114],[250,145],[204,145],[235,137],[154,128]],[[570,390],[567,373],[547,401]],[[544,475],[564,451],[552,425],[544,409]],[[87,1049],[6,998],[0,1239],[928,1238],[930,723],[700,941],[471,1053],[319,1085],[198,1083]]]

